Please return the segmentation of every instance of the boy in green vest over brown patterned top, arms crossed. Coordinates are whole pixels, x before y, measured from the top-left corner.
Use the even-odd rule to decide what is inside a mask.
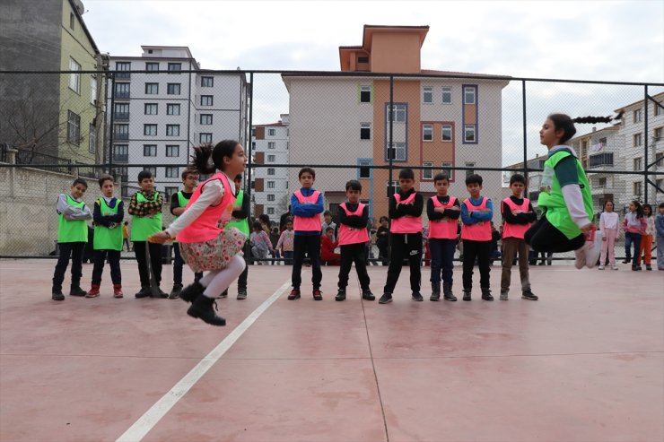
[[[129,212],[132,215],[131,240],[134,242],[134,253],[138,264],[138,276],[141,279],[141,290],[136,298],[153,297],[150,290],[150,270],[147,263],[146,247],[150,252],[150,267],[157,285],[162,282],[162,246],[148,243],[147,237],[162,231],[162,195],[154,190],[153,174],[150,170],[138,173],[138,186],[141,190],[131,197]],[[158,288],[159,298],[168,298],[168,293]]]

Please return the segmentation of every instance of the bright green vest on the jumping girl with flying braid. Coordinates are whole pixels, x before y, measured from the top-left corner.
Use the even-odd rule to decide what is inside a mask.
[[[561,160],[572,155],[571,152],[563,150],[555,152],[544,163],[544,173],[542,175],[542,184],[540,186],[537,205],[545,213],[546,220],[557,229],[564,233],[564,236],[572,239],[581,235],[581,229],[572,221],[570,212],[565,204],[563,190],[560,182],[555,176],[555,165]],[[592,221],[592,195],[590,194],[590,183],[586,177],[586,172],[581,166],[581,161],[576,160],[576,172],[579,175],[579,186],[581,187],[581,196],[583,197],[583,206],[588,213],[588,218]]]

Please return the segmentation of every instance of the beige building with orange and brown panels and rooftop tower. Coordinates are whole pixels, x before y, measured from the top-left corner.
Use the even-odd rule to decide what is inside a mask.
[[[434,168],[416,170],[415,186],[425,196],[434,193],[433,176],[447,171],[450,193],[465,196],[467,173],[501,164],[502,88],[509,78],[422,69],[428,30],[365,25],[362,45],[339,48],[347,76],[283,75],[290,95],[290,163],[336,166],[316,170],[315,187],[324,193],[326,209],[336,213],[348,179],[363,183],[363,202],[378,219],[388,213],[398,169]],[[396,168],[391,179],[387,169],[371,168],[389,165],[390,155]],[[483,193],[499,198],[501,173],[481,173]],[[290,170],[289,182],[297,183],[297,170]]]

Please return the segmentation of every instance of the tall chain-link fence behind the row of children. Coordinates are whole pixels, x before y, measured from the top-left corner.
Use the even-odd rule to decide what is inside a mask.
[[[0,73],[0,256],[54,252],[57,195],[75,177],[90,178],[85,201],[92,207],[100,174],[114,175],[128,202],[138,172],[150,169],[168,203],[182,188],[192,148],[229,138],[249,153],[251,217],[267,215],[277,229],[304,166],[316,170],[314,186],[333,219],[346,181],[359,180],[372,230],[388,215],[400,169],[415,171],[425,198],[435,193],[439,172],[459,198],[467,197],[467,175],[478,173],[500,226],[497,202],[510,195],[511,174],[528,176],[527,194],[537,203],[546,160],[538,132],[553,112],[624,111],[616,125],[577,125],[569,143],[588,172],[595,212],[608,200],[617,212],[633,199],[653,207],[664,200],[664,84],[170,65],[155,71],[135,61],[113,67]],[[168,204],[163,212],[168,225]]]

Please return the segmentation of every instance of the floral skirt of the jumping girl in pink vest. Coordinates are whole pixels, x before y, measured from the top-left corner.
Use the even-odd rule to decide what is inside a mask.
[[[205,242],[181,242],[179,251],[184,262],[196,273],[220,270],[228,265],[233,256],[241,255],[246,239],[240,230],[232,227]]]

